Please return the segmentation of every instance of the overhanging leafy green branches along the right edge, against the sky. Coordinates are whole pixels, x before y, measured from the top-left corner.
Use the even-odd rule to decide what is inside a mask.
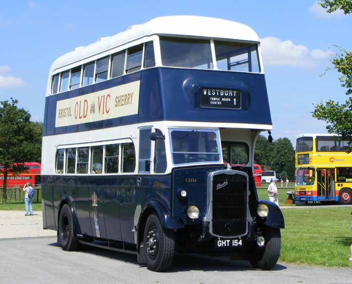
[[[320,6],[332,13],[342,9],[345,14],[352,13],[351,0],[321,0]],[[347,88],[346,95],[350,98],[345,103],[332,100],[326,103],[321,102],[315,105],[313,117],[328,123],[326,127],[329,133],[341,135],[343,140],[349,141],[348,152],[352,151],[352,53],[338,47],[339,54],[336,54],[331,62],[334,68],[341,74],[339,81],[341,86]],[[330,70],[331,68],[327,68]]]

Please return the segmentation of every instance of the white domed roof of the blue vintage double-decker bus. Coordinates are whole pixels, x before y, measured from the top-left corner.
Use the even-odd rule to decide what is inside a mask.
[[[50,75],[60,67],[89,58],[127,42],[156,34],[259,41],[257,34],[249,26],[231,20],[200,16],[158,17],[143,24],[130,26],[126,31],[114,36],[98,39],[97,42],[90,45],[75,48],[54,61],[50,68]]]

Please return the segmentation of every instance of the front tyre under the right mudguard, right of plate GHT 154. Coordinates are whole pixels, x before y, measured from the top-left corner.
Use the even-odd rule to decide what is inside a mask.
[[[272,269],[280,256],[281,234],[280,229],[267,227],[264,230],[265,247],[255,247],[250,257],[254,268],[263,270]]]

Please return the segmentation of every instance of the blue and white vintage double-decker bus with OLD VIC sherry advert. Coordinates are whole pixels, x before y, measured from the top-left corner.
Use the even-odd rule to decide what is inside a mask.
[[[64,250],[129,252],[154,271],[175,251],[271,269],[284,219],[258,200],[253,175],[255,141],[270,129],[246,25],[161,17],[76,48],[49,73],[43,226]]]

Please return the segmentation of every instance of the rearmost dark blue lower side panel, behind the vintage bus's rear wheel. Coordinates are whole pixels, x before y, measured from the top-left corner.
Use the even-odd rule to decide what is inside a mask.
[[[43,176],[41,198],[45,207],[46,229],[56,230],[54,215],[54,188],[48,177]]]

